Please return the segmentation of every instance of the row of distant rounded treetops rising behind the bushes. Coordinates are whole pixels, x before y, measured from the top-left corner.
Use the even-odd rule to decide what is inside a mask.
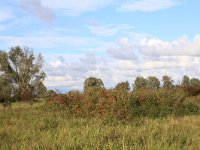
[[[85,80],[84,91],[91,87],[105,88],[103,81],[96,77],[89,77]],[[133,91],[140,89],[158,90],[161,88],[166,90],[182,89],[188,96],[197,96],[200,94],[200,80],[198,78],[190,79],[187,75],[184,75],[181,83],[174,84],[172,78],[167,75],[164,75],[161,81],[156,76],[149,76],[147,78],[139,76],[136,77],[132,84]],[[128,81],[124,81],[118,83],[114,89],[130,91],[131,87]]]

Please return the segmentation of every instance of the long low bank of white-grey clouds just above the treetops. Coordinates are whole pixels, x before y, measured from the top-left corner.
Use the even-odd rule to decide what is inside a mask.
[[[46,69],[46,84],[82,89],[85,78],[89,76],[101,78],[107,87],[126,80],[133,83],[140,75],[160,79],[163,75],[170,75],[175,81],[180,81],[184,74],[199,77],[199,37],[195,36],[192,42],[186,37],[171,42],[158,38],[142,38],[134,42],[123,37],[107,47],[103,57],[97,52],[62,55],[62,59],[46,62],[49,67]],[[69,59],[74,61],[69,62]]]

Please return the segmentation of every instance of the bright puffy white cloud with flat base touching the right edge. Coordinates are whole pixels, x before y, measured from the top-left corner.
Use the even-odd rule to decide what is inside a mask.
[[[192,42],[187,37],[172,42],[158,38],[142,39],[137,47],[141,54],[147,56],[200,56],[200,35],[197,35]]]

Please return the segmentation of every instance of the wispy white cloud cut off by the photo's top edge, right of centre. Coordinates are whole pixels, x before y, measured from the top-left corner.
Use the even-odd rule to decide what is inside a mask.
[[[123,3],[117,10],[121,12],[154,12],[180,4],[181,0],[130,0]]]

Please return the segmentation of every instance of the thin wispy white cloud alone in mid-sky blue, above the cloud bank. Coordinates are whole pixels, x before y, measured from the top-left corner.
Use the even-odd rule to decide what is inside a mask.
[[[94,33],[98,36],[113,36],[118,34],[119,32],[123,32],[128,29],[132,29],[128,24],[120,24],[120,25],[93,25],[87,26],[91,33]]]

